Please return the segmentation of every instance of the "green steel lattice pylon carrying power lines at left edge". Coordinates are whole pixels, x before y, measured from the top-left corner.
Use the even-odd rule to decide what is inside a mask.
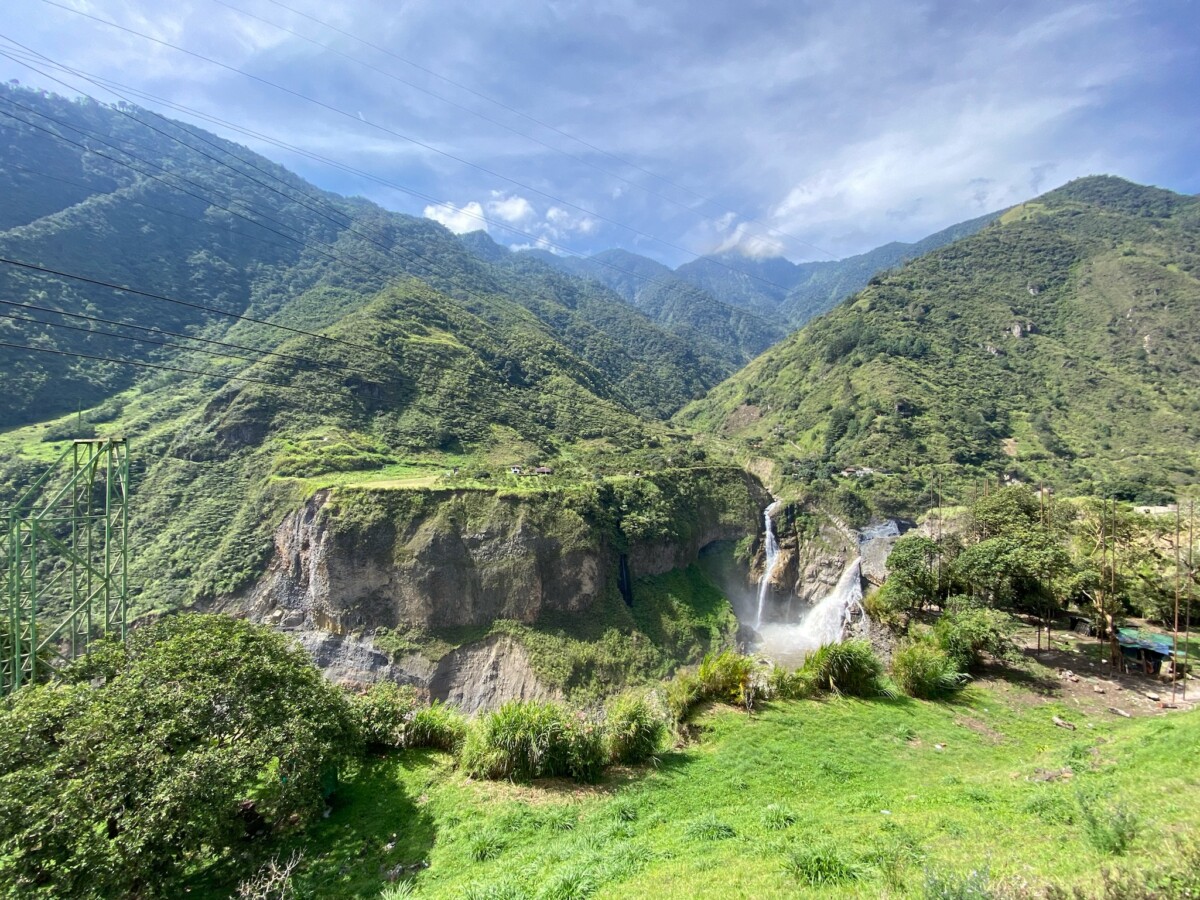
[[[50,676],[98,637],[126,634],[130,456],[76,440],[7,511],[0,547],[0,694]]]

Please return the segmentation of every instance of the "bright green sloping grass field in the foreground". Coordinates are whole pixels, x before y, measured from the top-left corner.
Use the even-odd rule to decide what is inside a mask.
[[[1046,696],[1048,676],[948,703],[714,708],[691,744],[595,787],[470,781],[446,755],[397,754],[281,853],[305,851],[301,895],[322,898],[379,896],[397,866],[420,898],[924,896],[1093,883],[1200,826],[1200,714],[1121,719]],[[1088,811],[1132,823],[1126,856]]]

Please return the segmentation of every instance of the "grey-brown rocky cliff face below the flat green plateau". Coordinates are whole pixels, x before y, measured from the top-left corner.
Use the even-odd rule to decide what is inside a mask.
[[[264,577],[220,606],[294,632],[336,680],[412,683],[472,712],[553,696],[557,688],[534,674],[512,637],[427,659],[392,658],[371,636],[586,616],[619,589],[623,560],[632,578],[661,575],[714,541],[754,533],[766,497],[756,480],[737,472],[698,484],[674,493],[668,480],[655,485],[653,493],[674,505],[660,509],[653,530],[638,510],[643,538],[625,536],[619,510],[629,504],[602,490],[582,500],[554,492],[319,492],[280,524]]]

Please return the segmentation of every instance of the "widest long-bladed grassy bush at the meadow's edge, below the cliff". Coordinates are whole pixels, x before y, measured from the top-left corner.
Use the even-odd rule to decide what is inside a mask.
[[[461,763],[469,775],[528,781],[566,775],[595,781],[606,762],[604,732],[557,703],[515,700],[469,730]]]

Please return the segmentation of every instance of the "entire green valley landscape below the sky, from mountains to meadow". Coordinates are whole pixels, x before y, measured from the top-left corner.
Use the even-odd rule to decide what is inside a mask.
[[[1200,890],[1195,196],[671,266],[0,112],[4,896]]]

